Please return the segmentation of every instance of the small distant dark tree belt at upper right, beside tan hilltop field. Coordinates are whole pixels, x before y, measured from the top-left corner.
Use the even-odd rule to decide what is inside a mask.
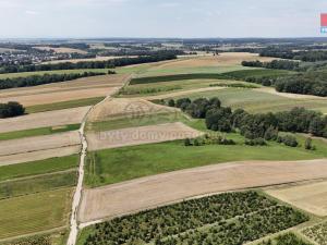
[[[256,61],[243,61],[243,66],[250,68],[265,68],[265,69],[279,69],[279,70],[296,70],[300,66],[300,62],[289,60],[272,60],[270,62]]]

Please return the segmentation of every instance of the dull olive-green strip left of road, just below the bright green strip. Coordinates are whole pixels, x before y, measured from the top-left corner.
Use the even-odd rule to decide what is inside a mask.
[[[71,187],[76,183],[76,170],[16,181],[0,182],[0,199]]]

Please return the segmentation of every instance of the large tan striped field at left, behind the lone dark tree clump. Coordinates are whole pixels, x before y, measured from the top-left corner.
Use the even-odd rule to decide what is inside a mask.
[[[28,107],[104,97],[116,91],[126,77],[126,75],[105,75],[36,87],[4,89],[0,91],[0,102],[19,101]]]

